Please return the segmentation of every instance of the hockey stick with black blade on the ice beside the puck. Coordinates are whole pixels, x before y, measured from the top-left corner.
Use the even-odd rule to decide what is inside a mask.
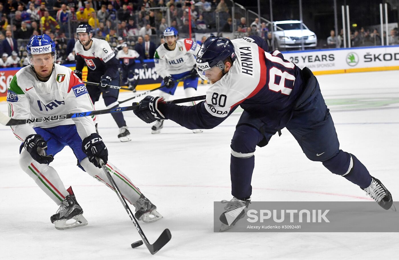
[[[126,203],[126,200],[124,199],[122,193],[120,192],[117,184],[115,183],[114,179],[112,178],[111,174],[109,173],[109,170],[105,166],[105,163],[103,160],[100,159],[100,164],[101,168],[103,168],[103,171],[105,172],[105,175],[107,175],[109,182],[111,182],[112,187],[114,188],[115,192],[117,193],[120,202],[122,202],[123,207],[126,209],[127,214],[129,215],[130,219],[133,221],[134,227],[136,227],[138,233],[140,234],[140,237],[142,238],[144,244],[146,244],[148,250],[150,251],[151,254],[155,254],[160,250],[166,243],[169,242],[169,240],[172,238],[172,235],[170,234],[169,229],[165,229],[164,232],[158,237],[158,239],[154,242],[154,244],[150,244],[148,242],[148,239],[144,235],[140,225],[138,225],[137,219],[134,217],[129,205]],[[137,244],[141,244],[140,241],[135,242]]]

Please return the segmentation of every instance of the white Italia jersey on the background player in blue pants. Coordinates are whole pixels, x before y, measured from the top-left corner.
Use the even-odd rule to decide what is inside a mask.
[[[176,41],[173,51],[166,49],[166,43],[160,45],[154,54],[155,70],[162,78],[172,74],[180,74],[192,70],[196,65],[196,58],[199,48],[198,43],[191,39]]]

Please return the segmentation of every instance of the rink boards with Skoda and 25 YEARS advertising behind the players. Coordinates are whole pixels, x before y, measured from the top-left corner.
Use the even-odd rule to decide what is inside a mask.
[[[381,70],[399,70],[399,46],[355,47],[350,49],[321,49],[282,52],[285,59],[300,68],[308,67],[315,75]],[[136,61],[137,90],[150,90],[159,86],[162,78],[156,73],[154,60],[144,60],[147,69]],[[65,65],[72,70],[75,64]],[[20,68],[0,69],[0,101],[6,100],[8,84]],[[83,68],[83,80],[86,80],[87,67]],[[180,82],[179,86],[182,86]],[[124,91],[124,90],[122,90]]]

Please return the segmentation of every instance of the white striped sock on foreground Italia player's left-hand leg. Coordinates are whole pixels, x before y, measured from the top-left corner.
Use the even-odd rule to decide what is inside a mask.
[[[25,149],[20,154],[20,166],[57,205],[69,195],[57,171],[47,164],[36,162]]]

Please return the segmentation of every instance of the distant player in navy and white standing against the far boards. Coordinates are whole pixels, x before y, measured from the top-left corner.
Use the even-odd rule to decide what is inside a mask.
[[[129,49],[126,43],[120,45],[122,49],[117,53],[117,59],[121,62],[122,69],[122,82],[129,88],[132,88],[133,92],[136,92],[136,86],[138,79],[134,80],[134,67],[136,66],[136,59],[140,57],[137,51]],[[141,59],[143,61],[143,59]],[[144,69],[147,65],[142,63]]]

